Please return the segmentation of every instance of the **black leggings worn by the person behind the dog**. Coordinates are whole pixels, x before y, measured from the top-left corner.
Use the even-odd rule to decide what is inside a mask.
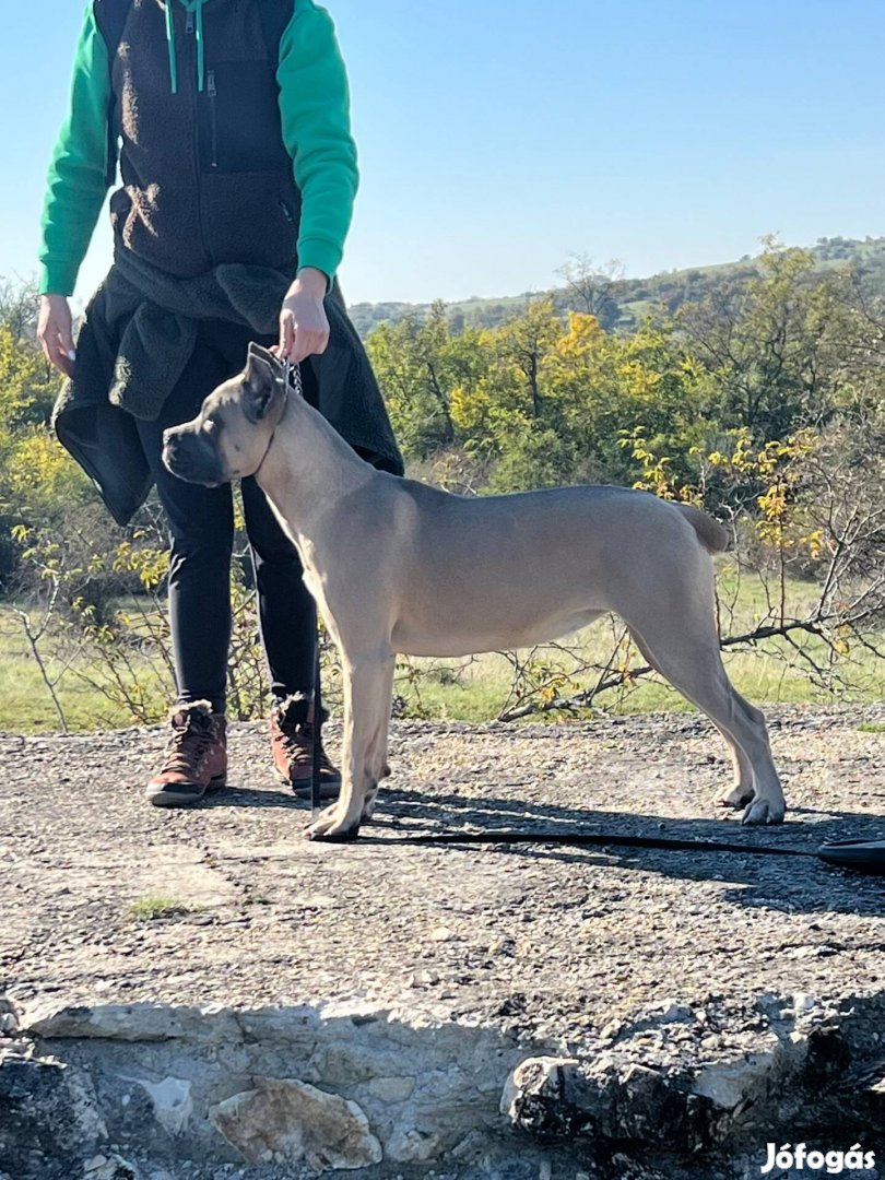
[[[163,431],[190,421],[206,394],[242,371],[249,340],[269,346],[247,328],[202,321],[194,354],[159,418],[139,421],[142,439],[171,539],[169,614],[178,702],[211,701],[224,712],[230,645],[230,558],[234,499],[229,484],[202,487],[163,466]],[[316,405],[310,367],[302,366],[307,399]],[[316,655],[316,608],[302,582],[295,546],[286,537],[254,477],[241,483],[245,530],[258,595],[258,622],[274,695],[309,693]]]

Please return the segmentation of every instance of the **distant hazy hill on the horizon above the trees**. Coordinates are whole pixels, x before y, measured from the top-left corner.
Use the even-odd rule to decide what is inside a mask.
[[[811,248],[811,253],[820,270],[856,266],[885,293],[885,237],[867,237],[864,241],[821,237]],[[740,281],[755,274],[758,260],[745,255],[738,262],[669,270],[649,278],[623,278],[603,273],[588,275],[584,276],[585,282],[581,284],[579,291],[558,287],[549,291],[504,295],[500,299],[468,299],[446,307],[457,329],[467,324],[493,328],[524,308],[527,300],[550,294],[563,310],[592,310],[604,327],[630,329],[654,308],[664,306],[669,312],[676,312],[682,303],[702,299],[723,280]],[[348,310],[356,330],[365,339],[380,323],[396,323],[408,315],[424,317],[430,307],[430,303],[354,303]]]

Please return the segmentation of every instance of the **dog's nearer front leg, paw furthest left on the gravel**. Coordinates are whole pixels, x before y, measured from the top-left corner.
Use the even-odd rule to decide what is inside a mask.
[[[380,719],[389,710],[386,658],[345,663],[345,726],[341,758],[341,794],[307,830],[310,839],[355,840],[360,820],[374,789],[371,755]]]

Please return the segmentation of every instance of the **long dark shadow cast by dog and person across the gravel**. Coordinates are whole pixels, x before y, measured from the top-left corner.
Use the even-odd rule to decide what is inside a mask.
[[[211,796],[212,807],[282,807],[307,820],[309,804],[282,789],[235,788]],[[293,815],[293,822],[297,822]],[[610,833],[674,840],[727,840],[754,846],[799,848],[814,853],[832,840],[885,840],[885,817],[857,812],[814,811],[793,807],[787,822],[776,827],[741,827],[727,819],[674,819],[667,815],[592,811],[536,800],[481,799],[461,794],[384,788],[376,818],[363,826],[359,844],[380,856],[392,843],[412,837],[514,831],[537,838],[582,832]],[[464,848],[467,845],[454,844]],[[483,848],[485,845],[470,845]],[[347,845],[329,845],[330,856],[346,856]],[[437,851],[446,845],[432,845]],[[497,846],[509,856],[530,861],[549,860],[579,865],[617,865],[643,873],[683,880],[717,880],[735,887],[723,891],[738,905],[795,912],[881,914],[885,911],[883,878],[837,868],[815,856],[772,857],[697,850],[579,847],[556,844],[513,843]]]

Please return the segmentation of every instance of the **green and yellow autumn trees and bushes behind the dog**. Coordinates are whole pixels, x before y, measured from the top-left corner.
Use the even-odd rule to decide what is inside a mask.
[[[754,627],[723,642],[778,637],[817,683],[848,683],[854,655],[878,657],[885,624],[885,310],[874,268],[838,251],[821,267],[812,251],[768,242],[749,273],[729,270],[635,327],[612,319],[620,280],[581,260],[563,277],[566,295],[533,296],[496,326],[434,303],[371,332],[409,474],[464,494],[610,483],[699,504],[730,523],[739,564],[766,585]],[[153,706],[131,653],[168,664],[168,636],[159,609],[133,621],[131,601],[162,605],[162,519],[150,503],[117,529],[52,438],[58,382],[34,341],[34,306],[27,287],[0,287],[0,592],[42,610],[22,622],[35,653],[50,611],[68,643],[114,664],[114,691],[146,719]],[[248,716],[263,673],[242,536],[238,553],[231,676]],[[788,601],[796,578],[814,590],[799,614]],[[636,675],[618,658],[589,684],[565,684],[539,667],[519,662],[510,714],[579,707]]]

